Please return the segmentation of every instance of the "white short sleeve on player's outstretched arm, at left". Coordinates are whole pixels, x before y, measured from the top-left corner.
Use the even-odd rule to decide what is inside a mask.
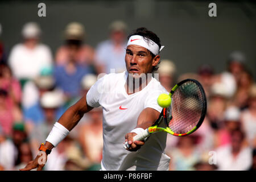
[[[105,76],[96,81],[96,83],[91,86],[88,93],[86,94],[86,102],[91,107],[100,106],[100,98],[104,88],[104,78]]]

